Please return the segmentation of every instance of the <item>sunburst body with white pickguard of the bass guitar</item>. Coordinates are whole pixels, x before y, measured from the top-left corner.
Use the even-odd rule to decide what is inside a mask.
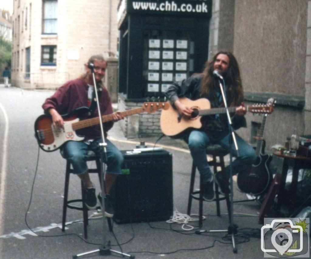
[[[39,147],[47,152],[52,152],[60,148],[69,140],[82,141],[84,137],[78,136],[72,129],[72,124],[78,122],[82,115],[89,111],[87,107],[81,107],[75,111],[62,115],[64,120],[64,130],[54,129],[52,117],[44,114],[35,121],[35,137]]]

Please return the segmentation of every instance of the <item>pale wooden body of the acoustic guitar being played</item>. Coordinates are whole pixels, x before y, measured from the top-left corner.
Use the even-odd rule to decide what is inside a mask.
[[[188,98],[179,98],[179,101],[194,111],[210,109],[210,102],[201,98],[195,101],[189,100]],[[201,119],[202,116],[194,116],[190,119],[180,117],[177,110],[171,105],[167,110],[162,110],[160,116],[160,126],[162,132],[172,138],[180,138],[189,129],[200,129],[202,127]]]

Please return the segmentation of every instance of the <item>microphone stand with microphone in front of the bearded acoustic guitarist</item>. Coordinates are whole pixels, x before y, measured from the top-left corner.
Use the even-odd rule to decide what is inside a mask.
[[[223,80],[221,75],[218,75],[217,73],[216,73],[216,75],[218,76],[218,78]],[[226,100],[226,96],[225,96],[225,91],[224,91],[224,88],[223,88],[223,86],[221,84],[220,79],[218,79],[218,81],[219,81],[219,86],[220,86],[220,90],[221,90],[222,99],[224,100],[224,104],[225,104],[226,114],[227,114],[227,117],[228,117],[229,133],[232,135],[232,139],[233,139],[233,142],[234,142],[234,147],[235,147],[235,150],[237,152],[237,157],[239,157],[239,148],[238,148],[238,144],[236,142],[234,130],[233,130],[233,127],[232,127],[232,121],[231,121],[229,110],[228,110],[228,106],[227,106],[227,100]],[[201,233],[205,233],[205,232],[212,232],[212,233],[228,232],[228,234],[231,234],[233,252],[237,253],[238,250],[235,247],[235,236],[234,235],[237,233],[238,226],[235,225],[233,223],[233,220],[232,220],[232,216],[233,216],[232,141],[229,141],[229,143],[230,143],[230,167],[229,167],[230,168],[230,178],[229,178],[229,181],[230,181],[230,196],[231,196],[231,199],[230,199],[230,197],[227,197],[228,193],[225,194],[226,199],[227,198],[230,199],[230,207],[228,208],[229,227],[228,227],[228,229],[197,230],[195,233],[196,234],[201,234]]]

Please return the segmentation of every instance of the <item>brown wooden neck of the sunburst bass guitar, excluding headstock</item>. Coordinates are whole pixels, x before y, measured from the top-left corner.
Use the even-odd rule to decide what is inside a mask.
[[[127,116],[131,116],[131,115],[134,115],[134,114],[137,114],[137,113],[141,113],[143,111],[144,111],[144,109],[142,107],[140,107],[140,108],[136,108],[136,109],[120,112],[120,115],[123,116],[123,117],[127,117]],[[109,115],[101,116],[101,119],[102,119],[102,122],[104,123],[104,122],[107,122],[107,121],[114,120],[114,117],[113,117],[113,114],[109,114]],[[90,126],[94,126],[94,125],[97,125],[97,124],[100,124],[99,117],[92,118],[92,119],[81,120],[81,121],[72,123],[72,129],[73,130],[80,130],[80,129],[87,128],[87,127],[90,127]]]

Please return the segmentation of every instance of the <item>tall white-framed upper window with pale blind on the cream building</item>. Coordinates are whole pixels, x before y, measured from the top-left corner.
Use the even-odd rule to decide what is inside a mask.
[[[57,0],[42,1],[42,33],[57,33]]]

